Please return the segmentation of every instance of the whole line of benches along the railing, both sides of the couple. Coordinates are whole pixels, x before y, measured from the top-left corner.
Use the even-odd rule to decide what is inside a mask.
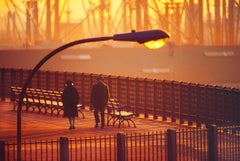
[[[13,110],[16,110],[19,103],[19,96],[22,91],[22,87],[11,87],[12,99],[14,101]],[[56,114],[57,116],[63,114],[63,103],[62,103],[62,92],[55,90],[27,88],[26,95],[23,98],[23,105],[25,111],[37,111],[38,113],[50,113],[51,115]],[[85,118],[82,109],[84,107],[78,104],[78,111],[82,117]],[[132,120],[135,114],[130,110],[129,106],[120,104],[116,99],[110,99],[107,105],[107,125],[112,123],[113,126],[118,124],[118,127],[124,125],[127,122],[128,126],[130,123],[136,127],[135,122]]]

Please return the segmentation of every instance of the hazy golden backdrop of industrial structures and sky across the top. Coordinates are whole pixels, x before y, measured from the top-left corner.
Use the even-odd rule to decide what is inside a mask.
[[[176,45],[240,44],[239,0],[3,0],[0,48],[163,29]],[[79,15],[73,13],[78,8]],[[43,46],[44,46],[43,45]]]

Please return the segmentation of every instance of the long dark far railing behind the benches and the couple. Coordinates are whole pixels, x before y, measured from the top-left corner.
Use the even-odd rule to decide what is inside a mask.
[[[1,100],[11,98],[11,86],[22,86],[30,70],[0,69]],[[90,91],[98,74],[38,71],[30,84],[33,88],[63,90],[71,79],[83,106],[90,104]],[[137,115],[179,120],[180,124],[231,125],[240,123],[240,90],[169,80],[152,80],[105,75],[112,98],[132,107]]]

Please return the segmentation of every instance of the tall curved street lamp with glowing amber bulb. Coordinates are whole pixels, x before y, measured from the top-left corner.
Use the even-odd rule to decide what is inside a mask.
[[[106,37],[97,37],[97,38],[88,38],[88,39],[82,39],[82,40],[76,40],[72,41],[70,43],[64,44],[57,49],[53,50],[49,54],[47,54],[42,60],[39,61],[39,63],[33,68],[31,73],[29,74],[26,82],[22,86],[22,91],[20,93],[19,97],[19,103],[18,103],[18,110],[17,110],[17,159],[18,161],[21,161],[21,111],[22,111],[22,104],[23,104],[23,98],[26,94],[26,89],[31,82],[33,76],[38,71],[38,69],[51,57],[56,55],[58,52],[69,48],[74,45],[88,43],[88,42],[98,42],[98,41],[107,41],[107,40],[114,40],[114,41],[133,41],[138,42],[140,44],[150,42],[150,48],[152,49],[153,46],[161,47],[163,42],[166,42],[166,40],[169,38],[169,35],[162,31],[162,30],[150,30],[150,31],[141,31],[141,32],[135,32],[132,31],[130,33],[123,33],[123,34],[116,34],[113,36],[106,36]],[[154,41],[154,42],[153,42]],[[155,42],[156,41],[156,42]],[[160,42],[159,42],[160,41]],[[153,46],[152,46],[153,45]],[[146,44],[146,46],[149,46],[149,44]]]

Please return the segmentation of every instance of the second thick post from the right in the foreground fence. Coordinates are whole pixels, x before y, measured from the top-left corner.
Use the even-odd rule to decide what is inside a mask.
[[[177,160],[177,143],[176,143],[176,131],[168,129],[167,130],[167,150],[168,150],[168,161]]]

